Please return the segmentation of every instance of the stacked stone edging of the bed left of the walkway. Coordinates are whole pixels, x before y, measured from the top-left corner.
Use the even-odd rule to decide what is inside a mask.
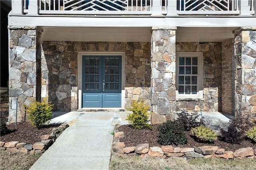
[[[19,141],[1,142],[0,150],[9,150],[22,153],[44,153],[60,136],[60,134],[68,128],[67,123],[63,123],[59,127],[53,128],[51,134],[45,134],[40,137],[41,141],[34,144],[27,144]]]

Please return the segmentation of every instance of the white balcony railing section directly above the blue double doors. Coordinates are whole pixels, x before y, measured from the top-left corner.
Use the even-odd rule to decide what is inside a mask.
[[[151,0],[40,0],[40,14],[151,14]]]

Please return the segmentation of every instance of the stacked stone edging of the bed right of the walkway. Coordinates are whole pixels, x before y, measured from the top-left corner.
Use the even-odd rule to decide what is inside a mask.
[[[148,143],[126,147],[119,139],[124,137],[124,132],[116,132],[112,144],[112,156],[140,156],[145,157],[184,157],[184,158],[226,158],[243,159],[256,158],[256,149],[247,147],[233,151],[219,148],[218,146],[199,146],[194,148],[180,148],[173,146],[149,147]]]

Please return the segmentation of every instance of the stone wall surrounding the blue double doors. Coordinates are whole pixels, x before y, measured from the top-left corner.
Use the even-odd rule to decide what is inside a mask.
[[[78,51],[125,51],[126,106],[142,98],[150,103],[150,43],[148,42],[43,42],[42,97],[54,110],[78,109]],[[57,59],[55,53],[60,53]]]

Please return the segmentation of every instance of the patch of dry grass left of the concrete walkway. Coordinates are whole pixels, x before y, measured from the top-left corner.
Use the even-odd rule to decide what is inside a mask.
[[[0,151],[1,170],[28,170],[42,154]]]

